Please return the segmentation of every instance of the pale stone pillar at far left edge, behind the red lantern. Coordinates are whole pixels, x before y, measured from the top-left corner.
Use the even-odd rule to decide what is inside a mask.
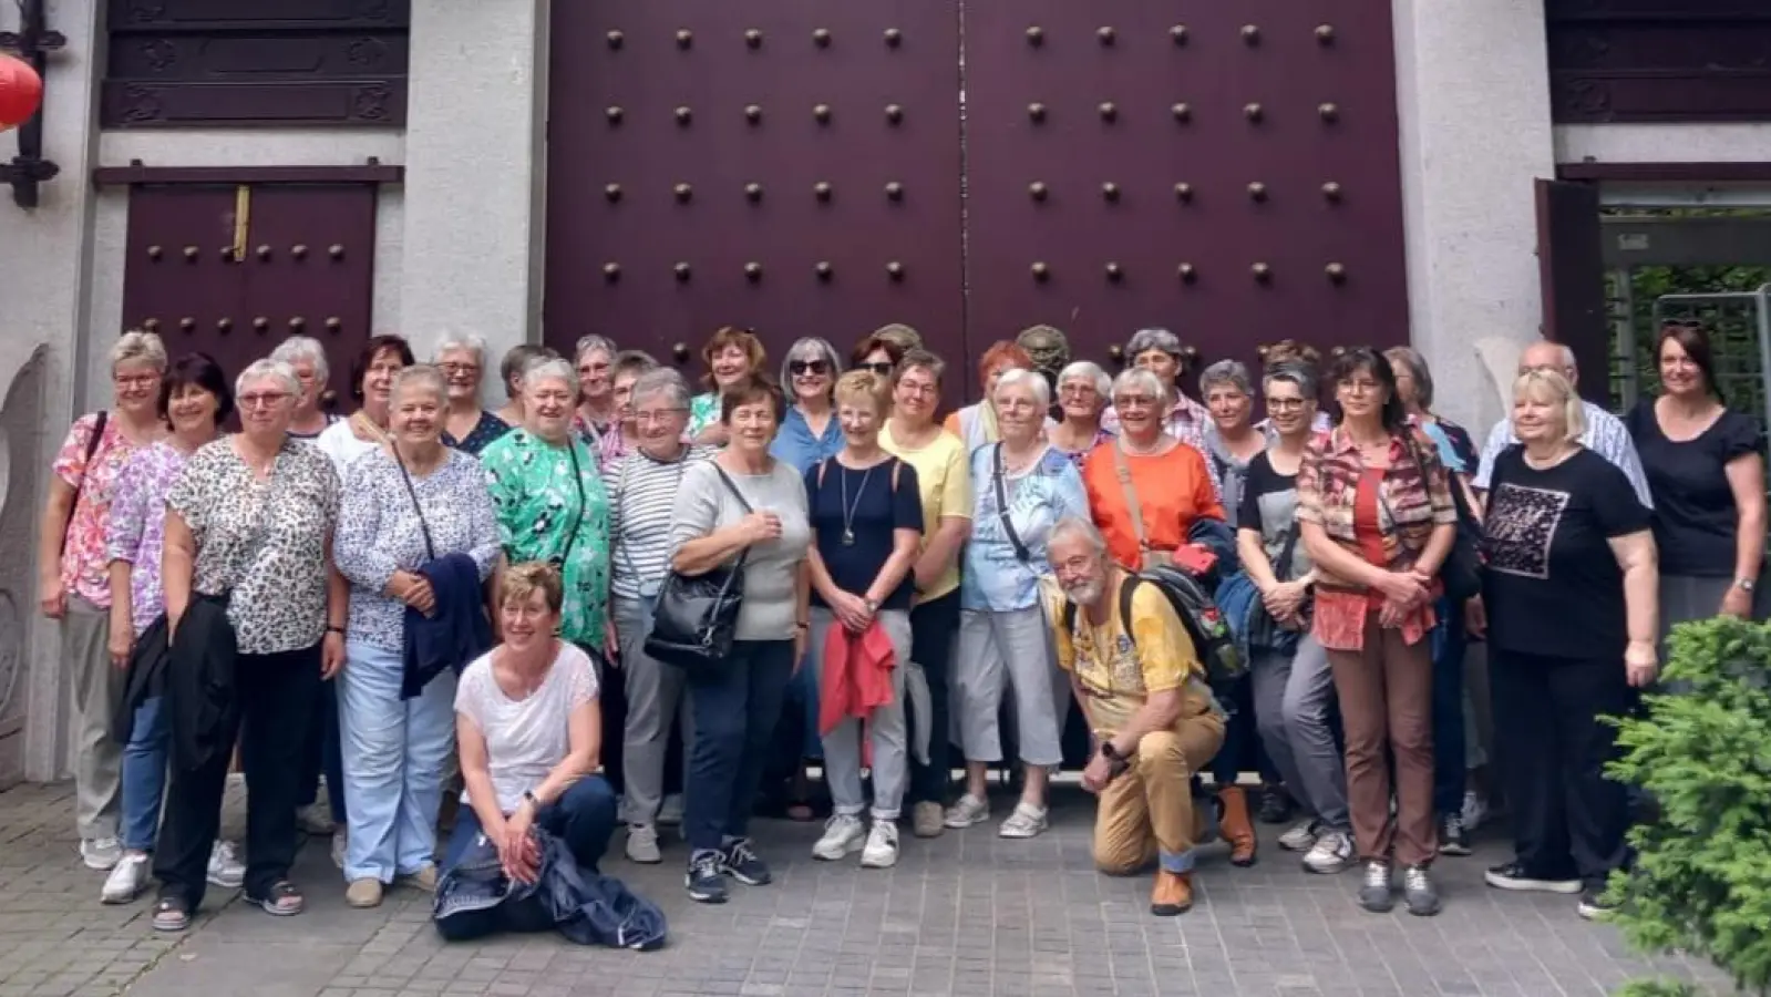
[[[43,138],[44,156],[62,174],[39,188],[32,211],[12,204],[11,188],[0,188],[0,420],[9,464],[0,533],[7,551],[32,554],[48,466],[73,414],[94,404],[78,397],[76,374],[85,363],[80,331],[87,326],[85,246],[94,211],[99,4],[51,4],[50,18],[50,27],[67,35],[67,48],[50,60]],[[0,4],[0,27],[18,27],[12,4]],[[0,135],[0,159],[16,149],[14,135]],[[0,641],[9,643],[0,650],[0,698],[11,692],[11,703],[0,703],[0,783],[58,777],[67,772],[69,692],[58,627],[37,614],[35,563],[0,565]],[[16,676],[9,675],[14,664]]]

